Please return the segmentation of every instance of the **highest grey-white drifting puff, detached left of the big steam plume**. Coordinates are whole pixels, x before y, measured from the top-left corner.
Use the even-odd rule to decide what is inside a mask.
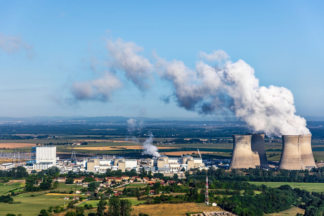
[[[144,49],[133,42],[108,40],[108,65],[121,70],[140,90],[151,87],[153,65],[144,56],[139,55]]]

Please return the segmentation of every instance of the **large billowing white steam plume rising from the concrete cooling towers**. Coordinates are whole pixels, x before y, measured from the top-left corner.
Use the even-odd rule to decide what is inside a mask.
[[[200,55],[208,60],[217,57]],[[156,65],[163,71],[162,77],[172,82],[180,107],[201,114],[233,112],[251,129],[270,137],[310,133],[306,120],[295,115],[291,91],[284,87],[260,86],[254,69],[243,60],[227,61],[215,67],[198,61],[195,70],[178,60],[159,59]]]

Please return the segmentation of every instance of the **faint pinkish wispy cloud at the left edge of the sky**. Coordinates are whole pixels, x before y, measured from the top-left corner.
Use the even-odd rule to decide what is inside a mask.
[[[26,52],[28,58],[33,58],[33,46],[24,42],[18,36],[6,36],[0,33],[0,49],[8,54],[16,54],[19,52]]]

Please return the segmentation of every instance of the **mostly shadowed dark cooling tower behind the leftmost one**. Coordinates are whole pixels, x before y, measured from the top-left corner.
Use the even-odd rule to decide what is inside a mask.
[[[264,149],[264,134],[248,134],[252,135],[251,150],[256,168],[268,168],[269,163]]]

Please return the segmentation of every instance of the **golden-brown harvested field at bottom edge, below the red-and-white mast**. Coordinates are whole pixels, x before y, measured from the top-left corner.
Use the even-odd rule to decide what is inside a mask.
[[[197,206],[195,203],[154,204],[133,206],[132,214],[146,213],[150,216],[185,216],[187,212],[222,211],[218,206]]]

